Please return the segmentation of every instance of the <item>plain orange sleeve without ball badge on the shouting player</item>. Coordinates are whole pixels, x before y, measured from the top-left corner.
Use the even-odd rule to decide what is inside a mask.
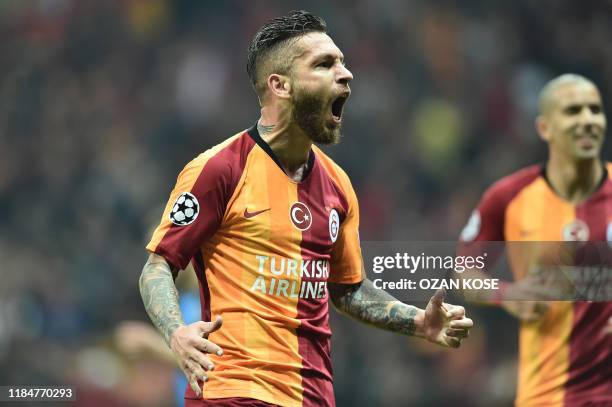
[[[331,256],[329,282],[337,284],[354,284],[364,279],[359,242],[359,204],[350,184],[347,189],[348,210]]]

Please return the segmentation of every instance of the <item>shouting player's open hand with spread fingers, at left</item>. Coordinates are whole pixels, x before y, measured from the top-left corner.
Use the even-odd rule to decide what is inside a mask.
[[[178,327],[170,339],[170,349],[177,359],[179,367],[185,373],[189,386],[198,395],[202,389],[198,380],[208,380],[207,371],[212,371],[215,365],[206,354],[223,355],[223,350],[209,341],[208,334],[221,328],[223,320],[220,316],[214,322],[198,321],[190,325]]]

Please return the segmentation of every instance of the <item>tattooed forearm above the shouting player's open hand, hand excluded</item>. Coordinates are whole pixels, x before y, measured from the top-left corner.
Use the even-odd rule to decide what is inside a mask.
[[[185,325],[174,285],[175,272],[163,257],[152,254],[140,275],[140,295],[149,318],[162,333],[166,343],[179,326]]]

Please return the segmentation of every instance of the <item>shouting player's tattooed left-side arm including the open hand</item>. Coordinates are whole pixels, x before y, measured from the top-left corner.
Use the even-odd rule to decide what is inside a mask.
[[[206,371],[214,369],[207,354],[218,356],[223,350],[209,341],[208,334],[221,327],[221,318],[214,322],[198,321],[185,325],[178,303],[174,279],[178,270],[172,268],[162,256],[152,253],[140,275],[140,295],[147,314],[161,332],[172,350],[189,385],[201,395],[199,381],[205,382]]]

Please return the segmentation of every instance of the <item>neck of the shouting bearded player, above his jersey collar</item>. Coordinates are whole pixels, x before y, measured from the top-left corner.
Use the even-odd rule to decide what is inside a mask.
[[[283,171],[291,179],[301,181],[307,170],[312,141],[290,116],[290,112],[263,107],[257,131],[274,151]]]

